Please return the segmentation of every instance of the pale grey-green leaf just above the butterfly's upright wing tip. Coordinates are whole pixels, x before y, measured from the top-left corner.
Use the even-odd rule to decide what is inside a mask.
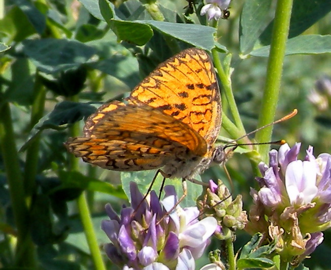
[[[146,20],[144,23],[162,34],[184,41],[193,46],[210,51],[215,47],[214,34],[216,29],[197,24],[172,23]]]

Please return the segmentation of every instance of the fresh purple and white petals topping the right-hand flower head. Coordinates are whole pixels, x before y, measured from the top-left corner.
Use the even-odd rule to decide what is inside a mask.
[[[284,144],[270,151],[270,166],[259,164],[263,177],[259,200],[269,207],[276,207],[287,200],[289,205],[300,207],[313,201],[331,203],[331,156],[321,154],[314,157],[310,146],[304,161],[297,160],[300,143],[292,148]]]

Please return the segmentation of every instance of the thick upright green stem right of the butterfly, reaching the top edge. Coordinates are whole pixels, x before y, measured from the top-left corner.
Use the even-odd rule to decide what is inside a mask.
[[[278,0],[277,2],[267,67],[266,87],[264,88],[258,127],[262,127],[274,121],[291,18],[292,2],[293,0]],[[272,128],[273,127],[264,128],[257,132],[255,137],[256,141],[271,141]],[[257,149],[261,154],[262,160],[267,161],[270,145],[259,145]]]

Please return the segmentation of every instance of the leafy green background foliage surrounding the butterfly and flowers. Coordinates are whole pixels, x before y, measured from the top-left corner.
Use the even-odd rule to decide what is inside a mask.
[[[201,1],[195,4],[197,9],[203,5]],[[126,97],[168,57],[192,46],[207,51],[217,47],[222,61],[232,54],[228,68],[240,115],[246,131],[256,128],[275,1],[233,1],[230,17],[220,20],[217,31],[201,25],[206,23],[205,17],[185,12],[184,0],[158,2],[164,21],[155,20],[148,5],[138,0],[11,0],[0,1],[0,5],[0,118],[14,129],[12,141],[2,144],[13,143],[18,151],[16,173],[24,179],[26,226],[40,269],[93,268],[74,201],[82,190],[88,191],[100,245],[109,241],[100,229],[100,221],[106,218],[105,203],[119,209],[130,180],[146,190],[153,173],[120,174],[81,161],[79,172],[70,171],[73,157],[65,151],[63,142],[73,134],[73,123],[79,122],[82,130],[82,120],[95,107]],[[293,108],[299,113],[276,125],[273,134],[275,140],[286,139],[290,145],[295,141],[303,142],[303,148],[313,145],[316,156],[331,149],[331,108],[328,105],[320,110],[308,99],[316,81],[331,76],[330,10],[329,1],[294,1],[277,118]],[[10,118],[4,113],[6,106],[10,106]],[[221,135],[228,137],[224,131]],[[10,153],[4,147],[1,151],[0,268],[9,268],[15,261],[17,224],[8,170],[15,167],[5,163],[5,155]],[[235,154],[227,168],[234,183],[233,194],[242,194],[244,208],[249,210],[249,187],[256,185],[249,160]],[[201,177],[204,181],[221,178],[227,182],[219,167]],[[180,181],[177,185],[180,190]],[[194,195],[186,205],[192,205],[194,196],[199,195],[193,189],[189,188]],[[329,268],[329,234],[325,232],[323,244],[305,261],[312,269]],[[239,248],[247,241],[247,235],[239,233],[235,245]],[[207,255],[201,261],[205,264]],[[107,265],[112,267],[109,261]]]

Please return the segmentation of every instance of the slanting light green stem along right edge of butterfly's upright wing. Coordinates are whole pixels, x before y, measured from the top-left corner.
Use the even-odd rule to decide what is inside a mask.
[[[216,48],[212,49],[213,59],[214,59],[214,65],[217,69],[218,76],[221,80],[223,90],[226,96],[226,100],[228,102],[228,106],[230,108],[231,114],[234,117],[235,124],[237,128],[240,130],[240,136],[245,135],[245,128],[241,121],[239,110],[235,101],[235,97],[232,92],[232,86],[231,86],[231,80],[229,74],[225,74],[223,66],[221,64],[221,61],[218,56],[218,52]]]

